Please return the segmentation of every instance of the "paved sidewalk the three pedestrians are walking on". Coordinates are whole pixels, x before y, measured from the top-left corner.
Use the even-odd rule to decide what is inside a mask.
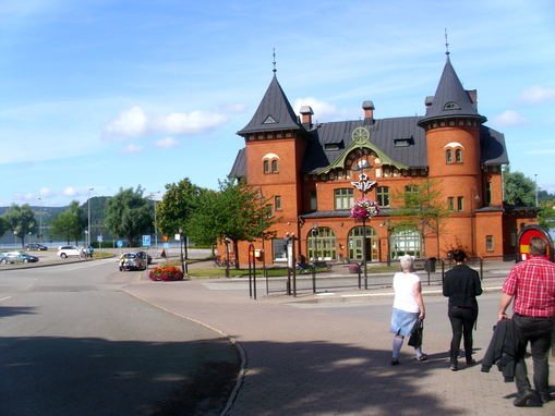
[[[405,346],[402,364],[391,367],[388,322],[292,307],[291,296],[253,301],[230,291],[209,290],[210,281],[143,279],[125,290],[212,328],[237,344],[243,357],[243,374],[226,415],[555,414],[555,402],[515,407],[515,384],[504,383],[495,367],[488,374],[481,372],[480,365],[449,371],[446,345],[450,333],[426,333],[430,362],[417,363]],[[484,281],[484,290],[498,291],[502,282]],[[438,291],[438,286],[425,286],[423,291]],[[347,302],[357,295],[361,291],[302,294],[294,301]],[[364,291],[363,295],[391,296],[391,289]],[[478,352],[476,360],[484,353],[485,348]],[[553,359],[551,363],[553,371]]]

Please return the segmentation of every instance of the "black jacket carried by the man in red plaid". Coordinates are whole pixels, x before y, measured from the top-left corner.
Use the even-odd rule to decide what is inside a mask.
[[[512,319],[502,319],[493,327],[493,337],[482,360],[482,372],[490,372],[497,363],[505,382],[515,380],[515,357],[517,355],[517,333]]]

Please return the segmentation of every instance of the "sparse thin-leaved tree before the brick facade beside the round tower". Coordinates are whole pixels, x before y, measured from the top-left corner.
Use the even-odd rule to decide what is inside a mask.
[[[436,186],[436,181],[426,179],[422,182],[410,183],[403,192],[393,194],[393,200],[397,208],[391,213],[396,220],[390,230],[418,231],[423,257],[426,257],[426,236],[436,235],[437,250],[439,252],[441,228],[449,216],[449,208]]]

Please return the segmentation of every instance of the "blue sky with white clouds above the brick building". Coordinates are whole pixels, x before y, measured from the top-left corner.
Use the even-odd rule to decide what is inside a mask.
[[[318,122],[424,115],[446,44],[510,170],[555,193],[552,0],[0,0],[0,206],[218,188],[274,68]]]

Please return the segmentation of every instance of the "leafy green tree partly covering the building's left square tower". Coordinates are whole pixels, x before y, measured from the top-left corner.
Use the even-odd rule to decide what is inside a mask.
[[[219,181],[219,192],[206,199],[209,205],[203,206],[191,219],[196,228],[205,228],[209,235],[217,235],[220,243],[225,238],[231,241],[237,269],[240,268],[239,242],[270,237],[273,233],[266,230],[279,221],[269,217],[268,199],[261,200],[260,195],[260,191],[249,185],[244,178]]]

